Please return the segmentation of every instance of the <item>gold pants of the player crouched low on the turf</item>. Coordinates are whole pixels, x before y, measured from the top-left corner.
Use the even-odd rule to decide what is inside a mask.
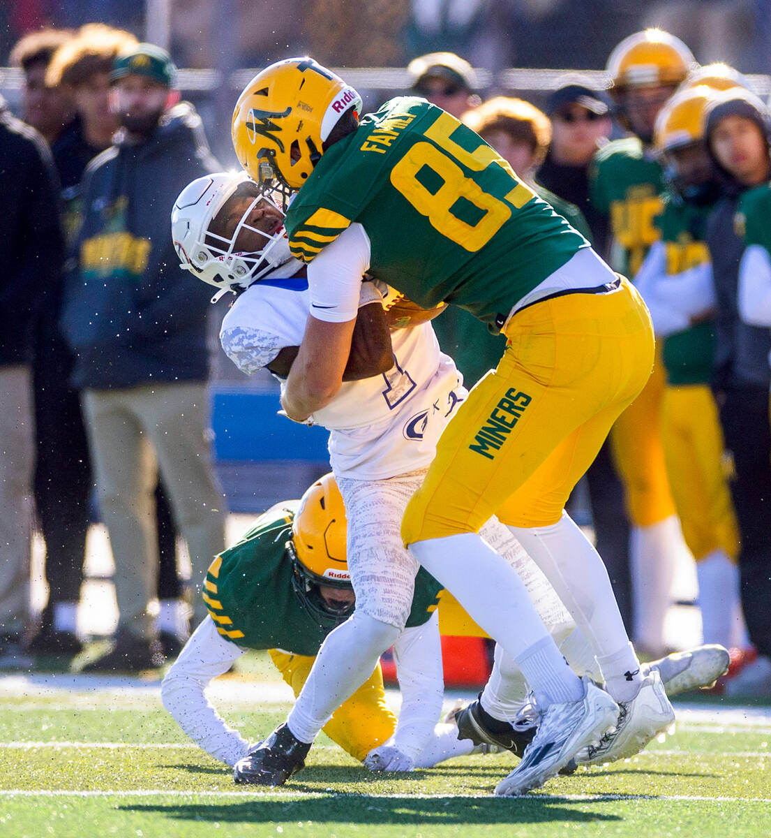
[[[295,697],[299,696],[316,657],[270,649],[270,660],[290,685]],[[321,729],[332,742],[337,742],[344,751],[360,761],[373,747],[382,745],[393,736],[396,716],[385,700],[383,672],[379,662],[372,676],[337,708]]]

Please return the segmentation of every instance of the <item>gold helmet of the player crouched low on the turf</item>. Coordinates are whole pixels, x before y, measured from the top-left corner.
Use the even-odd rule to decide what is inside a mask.
[[[292,560],[292,587],[301,603],[321,624],[337,625],[353,603],[335,607],[321,597],[319,585],[350,591],[346,553],[347,521],[340,489],[332,473],[316,480],[300,500],[286,547]]]

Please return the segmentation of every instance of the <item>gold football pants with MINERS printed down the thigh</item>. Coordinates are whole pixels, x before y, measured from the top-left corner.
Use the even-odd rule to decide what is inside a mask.
[[[650,376],[650,317],[622,279],[523,308],[506,350],[439,439],[404,515],[405,544],[505,524],[557,523],[611,425]]]

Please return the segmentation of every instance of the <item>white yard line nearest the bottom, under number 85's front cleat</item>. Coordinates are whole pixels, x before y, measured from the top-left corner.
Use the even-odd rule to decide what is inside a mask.
[[[322,798],[358,798],[358,799],[397,799],[397,800],[469,800],[496,799],[492,794],[345,794],[306,791],[262,792],[244,789],[244,791],[182,791],[179,789],[130,789],[119,791],[105,789],[102,791],[75,791],[72,789],[0,789],[0,797],[211,797],[211,798],[243,798],[270,799],[272,797],[322,799]],[[771,798],[762,797],[711,797],[697,794],[532,794],[522,800],[565,800],[568,803],[602,803],[606,800],[644,800],[650,803],[687,802],[687,803],[762,803],[771,804]]]

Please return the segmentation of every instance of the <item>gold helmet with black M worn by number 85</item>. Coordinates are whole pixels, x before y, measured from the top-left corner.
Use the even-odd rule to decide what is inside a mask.
[[[300,189],[340,117],[362,111],[361,96],[311,58],[266,67],[239,96],[231,132],[239,163],[258,184],[278,178]]]

